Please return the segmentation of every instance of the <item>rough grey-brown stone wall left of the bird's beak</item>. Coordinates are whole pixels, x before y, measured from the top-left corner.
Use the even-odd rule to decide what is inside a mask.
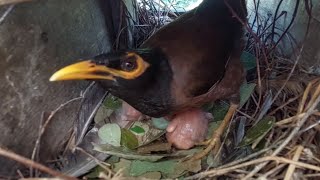
[[[1,12],[7,7],[0,7]],[[95,0],[34,1],[16,5],[0,24],[0,146],[30,157],[42,114],[78,97],[86,82],[49,82],[78,58],[110,50]],[[62,109],[42,137],[40,157],[52,158],[70,133],[79,101]],[[0,157],[0,175],[16,171]]]

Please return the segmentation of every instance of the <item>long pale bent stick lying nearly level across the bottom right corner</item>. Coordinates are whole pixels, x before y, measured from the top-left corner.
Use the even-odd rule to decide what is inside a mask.
[[[223,175],[225,173],[234,171],[236,169],[240,169],[240,168],[244,168],[247,166],[251,166],[254,164],[259,164],[262,162],[270,162],[270,161],[275,161],[277,163],[286,163],[286,164],[294,164],[299,168],[306,168],[306,169],[310,169],[310,170],[314,170],[314,171],[319,171],[320,172],[320,167],[315,166],[315,165],[311,165],[311,164],[307,164],[307,163],[303,163],[303,162],[297,162],[297,161],[293,161],[291,159],[287,159],[287,158],[283,158],[283,157],[276,157],[276,156],[267,156],[267,157],[262,157],[259,159],[255,159],[249,162],[245,162],[242,164],[238,164],[235,166],[231,166],[231,167],[227,167],[227,168],[217,168],[217,169],[213,169],[210,171],[206,171],[206,172],[202,172],[202,173],[198,173],[194,176],[190,176],[188,178],[186,178],[186,180],[188,179],[196,179],[196,178],[203,178],[203,177],[213,177],[213,176],[219,176],[219,175]]]

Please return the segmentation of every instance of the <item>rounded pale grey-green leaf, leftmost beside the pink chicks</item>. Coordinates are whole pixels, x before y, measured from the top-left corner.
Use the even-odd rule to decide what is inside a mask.
[[[98,136],[102,143],[120,146],[121,128],[117,124],[105,124],[99,129]]]

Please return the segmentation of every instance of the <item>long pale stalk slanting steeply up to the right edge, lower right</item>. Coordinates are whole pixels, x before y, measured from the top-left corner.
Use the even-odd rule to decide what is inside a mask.
[[[320,88],[320,85],[318,85],[317,90]],[[304,125],[304,123],[307,121],[309,116],[314,112],[314,109],[320,102],[320,96],[315,98],[315,101],[312,103],[312,106],[307,110],[305,116],[302,117],[300,121],[298,121],[296,127],[291,131],[289,136],[284,140],[284,142],[272,153],[272,156],[276,156],[279,152],[281,152],[287,144],[299,133],[301,127]],[[264,162],[258,166],[256,166],[246,177],[243,179],[249,179],[251,178],[255,173],[259,172],[263,167],[265,167],[268,164],[268,162]]]

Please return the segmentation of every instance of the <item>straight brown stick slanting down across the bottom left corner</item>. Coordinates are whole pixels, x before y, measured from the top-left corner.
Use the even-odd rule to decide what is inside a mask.
[[[8,151],[8,150],[5,150],[3,148],[0,147],[0,156],[3,156],[3,157],[6,157],[8,159],[11,159],[11,160],[14,160],[14,161],[17,161],[21,164],[24,164],[25,166],[31,166],[35,169],[38,169],[40,171],[43,171],[45,173],[48,173],[52,176],[56,176],[56,177],[60,177],[60,178],[63,178],[63,179],[67,179],[67,180],[75,180],[77,178],[75,177],[71,177],[71,176],[67,176],[67,175],[64,175],[58,171],[55,171],[53,169],[50,169],[40,163],[37,163],[35,161],[32,161],[31,159],[28,159],[28,158],[25,158],[23,156],[20,156],[14,152],[11,152],[11,151]]]

